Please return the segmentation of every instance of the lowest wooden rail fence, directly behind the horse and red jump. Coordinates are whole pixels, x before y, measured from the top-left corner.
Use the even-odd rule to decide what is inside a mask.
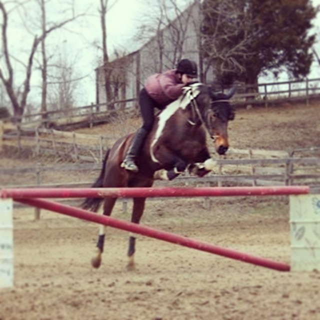
[[[320,185],[320,148],[305,149],[313,156],[288,156],[287,152],[271,150],[235,150],[241,158],[217,159],[216,170],[204,177],[184,175],[169,182],[172,184],[225,185]],[[243,158],[243,155],[251,155]],[[262,157],[267,155],[267,157]],[[258,158],[254,156],[259,155]],[[283,157],[283,155],[286,155]],[[0,168],[2,187],[60,187],[89,186],[98,176],[101,162],[40,165],[21,168]],[[67,172],[67,174],[66,174]],[[69,180],[68,180],[69,179]],[[22,181],[27,181],[23,183]],[[160,183],[160,182],[159,182]],[[167,183],[167,182],[165,182]]]

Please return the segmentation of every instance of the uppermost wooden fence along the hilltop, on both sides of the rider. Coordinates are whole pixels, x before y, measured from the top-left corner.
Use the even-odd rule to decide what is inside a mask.
[[[235,105],[262,104],[269,105],[283,100],[300,99],[306,103],[313,97],[320,96],[320,78],[290,80],[281,82],[259,83],[255,85],[239,85],[232,98]],[[59,127],[68,124],[85,124],[92,126],[101,123],[119,110],[127,112],[137,103],[136,98],[111,101],[109,103],[91,104],[62,110],[38,112],[14,116],[5,121],[21,123],[22,126]],[[114,110],[109,106],[113,105]]]

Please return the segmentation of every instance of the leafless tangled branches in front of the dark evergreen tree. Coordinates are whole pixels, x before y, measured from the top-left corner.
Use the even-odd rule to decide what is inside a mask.
[[[249,19],[243,14],[241,6],[234,0],[217,0],[214,5],[204,2],[202,18],[200,36],[201,54],[205,58],[204,78],[211,65],[214,65],[212,71],[217,79],[225,74],[244,72],[244,66],[238,57],[252,54],[247,50],[252,42],[252,32],[260,31],[252,31],[254,18]],[[238,39],[236,45],[230,45],[234,38]]]

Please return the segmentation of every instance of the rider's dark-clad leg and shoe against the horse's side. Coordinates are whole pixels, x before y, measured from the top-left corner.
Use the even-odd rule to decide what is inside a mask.
[[[134,159],[137,156],[137,154],[140,152],[142,145],[145,141],[145,138],[148,132],[151,130],[153,121],[154,121],[154,115],[153,115],[154,101],[146,93],[144,88],[140,91],[140,94],[139,94],[139,105],[140,105],[140,111],[143,119],[143,125],[136,132],[133,138],[133,141],[125,155],[125,158],[121,163],[121,167],[133,172],[138,171],[138,167],[135,164]]]

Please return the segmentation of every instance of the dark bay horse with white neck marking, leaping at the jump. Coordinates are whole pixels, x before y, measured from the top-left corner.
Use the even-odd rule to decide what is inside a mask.
[[[106,151],[99,177],[92,187],[151,187],[155,179],[172,180],[186,168],[192,174],[203,176],[213,169],[206,134],[212,138],[215,151],[224,154],[228,149],[227,124],[234,118],[229,104],[229,93],[217,93],[203,83],[193,83],[183,88],[183,94],[155,115],[153,127],[135,159],[139,171],[131,172],[120,167],[133,133],[119,138]],[[97,211],[101,202],[103,214],[110,215],[116,198],[86,198],[84,209]],[[139,223],[145,198],[133,198],[131,222]],[[101,264],[105,226],[99,226],[97,252],[91,260],[93,267]],[[135,237],[129,236],[128,269],[134,268]]]

